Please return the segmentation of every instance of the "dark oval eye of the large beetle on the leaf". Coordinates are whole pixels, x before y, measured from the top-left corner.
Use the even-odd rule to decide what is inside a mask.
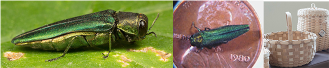
[[[145,36],[147,32],[147,22],[144,20],[139,21],[139,36],[143,37]]]

